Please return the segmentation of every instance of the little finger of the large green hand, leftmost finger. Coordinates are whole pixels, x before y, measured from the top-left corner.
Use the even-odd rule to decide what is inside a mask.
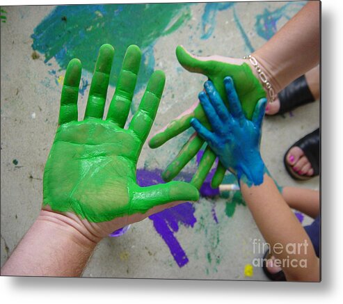
[[[58,125],[73,120],[77,121],[77,98],[79,97],[81,70],[81,61],[77,58],[72,59],[67,65],[61,93]]]

